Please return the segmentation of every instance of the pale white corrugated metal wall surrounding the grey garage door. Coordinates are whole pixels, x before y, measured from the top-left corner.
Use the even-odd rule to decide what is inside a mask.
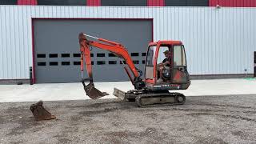
[[[190,74],[253,74],[255,15],[255,8],[0,6],[0,79],[29,78],[31,18],[154,18],[154,41],[182,40]]]

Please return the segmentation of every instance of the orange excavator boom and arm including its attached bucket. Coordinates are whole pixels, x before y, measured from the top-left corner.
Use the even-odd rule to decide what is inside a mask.
[[[92,72],[92,66],[91,66],[91,60],[90,60],[90,46],[94,46],[102,50],[108,50],[112,54],[116,55],[118,58],[124,59],[124,61],[127,64],[127,66],[125,66],[124,69],[126,70],[126,73],[130,78],[130,81],[134,85],[134,88],[140,90],[145,86],[145,83],[142,82],[142,78],[140,78],[140,76],[142,75],[141,71],[134,66],[134,62],[132,58],[130,58],[130,54],[128,53],[128,51],[124,46],[122,46],[120,43],[111,42],[103,38],[95,38],[98,40],[98,42],[90,41],[86,37],[90,37],[90,38],[95,38],[95,37],[92,37],[90,35],[86,35],[83,33],[79,34],[79,44],[80,44],[80,52],[81,52],[81,72],[83,74],[84,61],[85,61],[86,71],[89,77],[89,78],[83,78],[83,75],[82,75],[82,85],[84,86],[86,94],[90,98],[98,99],[106,95],[106,93],[102,93],[101,91],[97,90],[94,87],[93,72]],[[130,74],[130,71],[132,74]],[[85,82],[90,82],[90,83],[86,86]]]

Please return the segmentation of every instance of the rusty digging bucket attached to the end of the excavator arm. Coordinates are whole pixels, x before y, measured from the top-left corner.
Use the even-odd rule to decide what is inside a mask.
[[[105,95],[109,95],[106,92],[101,92],[100,90],[96,89],[93,82],[90,82],[87,86],[84,82],[82,82],[82,85],[84,86],[86,94],[92,99],[98,99],[104,97]]]

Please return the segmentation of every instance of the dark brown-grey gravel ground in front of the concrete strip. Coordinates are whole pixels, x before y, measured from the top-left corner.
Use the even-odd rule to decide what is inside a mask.
[[[43,122],[31,102],[0,103],[0,143],[256,143],[256,94],[186,99],[146,108],[118,99],[45,102],[58,119]]]

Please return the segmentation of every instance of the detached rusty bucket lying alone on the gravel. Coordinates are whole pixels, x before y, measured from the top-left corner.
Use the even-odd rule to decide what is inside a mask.
[[[56,119],[56,116],[50,114],[50,112],[42,106],[42,103],[42,101],[39,101],[30,106],[34,119],[36,121]]]

